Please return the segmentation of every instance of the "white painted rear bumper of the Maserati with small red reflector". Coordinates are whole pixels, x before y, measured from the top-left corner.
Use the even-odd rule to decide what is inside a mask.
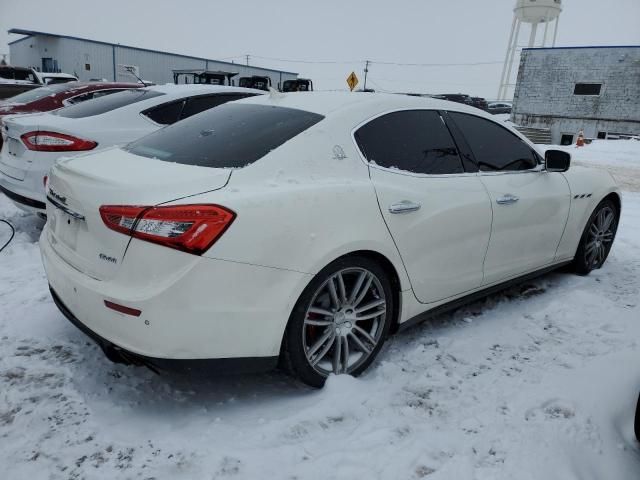
[[[310,279],[132,242],[117,274],[96,280],[56,253],[47,230],[40,249],[60,309],[101,346],[144,364],[158,365],[160,359],[243,363],[247,358],[272,363],[293,304]],[[142,261],[149,249],[154,260]],[[117,312],[105,300],[141,314]]]

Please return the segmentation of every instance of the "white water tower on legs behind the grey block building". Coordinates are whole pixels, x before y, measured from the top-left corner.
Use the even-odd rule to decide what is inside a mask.
[[[551,40],[551,46],[555,47],[560,12],[562,12],[562,0],[516,0],[516,6],[513,9],[513,23],[511,24],[509,45],[507,46],[507,54],[504,57],[504,66],[502,67],[502,77],[500,78],[498,100],[507,100],[509,87],[513,86],[511,83],[513,60],[516,56],[516,51],[521,47],[521,45],[518,45],[518,41],[522,24],[525,23],[531,26],[527,47],[546,47],[548,45],[547,35],[549,33],[549,24],[553,22],[553,40]],[[536,44],[538,25],[543,23],[544,34]]]

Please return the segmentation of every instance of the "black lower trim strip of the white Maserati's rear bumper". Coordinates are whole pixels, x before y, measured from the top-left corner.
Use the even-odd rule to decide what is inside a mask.
[[[206,372],[217,374],[230,373],[255,373],[273,370],[278,364],[278,356],[273,357],[247,357],[247,358],[218,358],[218,359],[166,359],[153,358],[130,352],[101,337],[88,328],[67,308],[55,290],[50,288],[51,296],[56,306],[82,333],[93,340],[104,352],[109,360],[125,365],[143,365],[152,370],[178,371],[178,372]]]

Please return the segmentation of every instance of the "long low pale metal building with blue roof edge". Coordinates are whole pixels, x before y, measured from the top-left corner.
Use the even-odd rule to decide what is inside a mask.
[[[145,48],[101,42],[86,38],[56,35],[12,28],[9,33],[25,37],[9,43],[11,63],[33,67],[43,72],[75,74],[80,80],[106,79],[135,81],[127,72],[133,69],[144,80],[157,84],[173,83],[173,70],[208,70],[237,72],[240,77],[262,75],[271,78],[277,88],[285,80],[296,79],[298,74],[269,68],[223,62],[209,58],[192,57]]]

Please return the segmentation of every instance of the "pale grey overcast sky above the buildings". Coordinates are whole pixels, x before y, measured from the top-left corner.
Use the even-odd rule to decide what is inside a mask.
[[[367,87],[494,98],[515,0],[0,0],[10,28],[86,37],[299,72],[316,90]],[[640,45],[640,0],[564,0],[558,46]],[[523,32],[521,43],[526,42]],[[264,58],[260,58],[264,57]],[[304,60],[302,63],[275,59]],[[395,63],[477,63],[407,67]],[[144,76],[144,72],[142,72]]]

